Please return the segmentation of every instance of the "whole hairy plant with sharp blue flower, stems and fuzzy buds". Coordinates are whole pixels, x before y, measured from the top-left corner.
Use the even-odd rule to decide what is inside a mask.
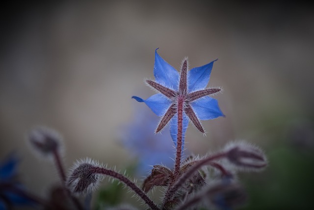
[[[184,137],[189,121],[200,132],[205,133],[200,120],[224,116],[217,100],[209,96],[219,92],[221,88],[206,89],[211,68],[216,60],[188,70],[187,59],[184,59],[179,73],[157,54],[157,50],[155,57],[156,81],[146,82],[159,93],[146,100],[137,96],[132,98],[144,102],[161,118],[156,132],[160,132],[169,123],[170,136],[176,146],[173,169],[154,165],[151,174],[143,181],[142,187],[139,187],[124,174],[85,158],[77,161],[66,176],[60,158],[60,136],[55,131],[43,127],[30,132],[28,139],[32,148],[55,160],[64,195],[72,201],[72,209],[83,209],[78,196],[90,195],[97,189],[103,177],[110,177],[125,184],[151,210],[186,210],[204,205],[223,210],[233,209],[247,200],[244,188],[235,179],[236,173],[260,171],[267,166],[263,151],[243,141],[228,144],[223,150],[202,158],[191,155],[182,161]],[[156,186],[165,189],[162,203],[158,205],[147,194]],[[120,206],[115,210],[134,208]]]

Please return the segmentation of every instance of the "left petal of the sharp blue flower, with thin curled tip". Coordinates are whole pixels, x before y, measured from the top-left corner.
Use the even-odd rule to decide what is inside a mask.
[[[161,93],[152,95],[146,100],[137,96],[132,96],[132,98],[134,98],[138,102],[144,102],[159,117],[165,114],[165,112],[171,105],[171,101]]]

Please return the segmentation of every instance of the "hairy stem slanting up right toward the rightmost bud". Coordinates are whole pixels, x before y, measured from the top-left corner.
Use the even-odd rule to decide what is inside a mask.
[[[171,196],[188,180],[198,169],[200,169],[202,166],[207,165],[207,164],[212,164],[210,163],[211,161],[215,159],[219,159],[222,157],[225,157],[226,153],[218,153],[212,156],[209,156],[205,159],[198,160],[185,174],[183,174],[177,182],[168,189],[168,193],[171,199]]]

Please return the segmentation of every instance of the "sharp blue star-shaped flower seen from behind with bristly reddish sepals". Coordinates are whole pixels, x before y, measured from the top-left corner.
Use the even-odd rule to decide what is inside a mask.
[[[178,110],[180,107],[183,109],[183,143],[189,120],[199,131],[205,133],[200,120],[211,120],[224,116],[217,100],[208,96],[220,89],[206,89],[214,61],[188,71],[187,60],[184,60],[179,74],[174,67],[157,54],[156,49],[155,81],[147,80],[146,83],[159,93],[146,100],[137,96],[132,97],[138,102],[144,102],[157,116],[161,117],[156,133],[170,121],[170,134],[175,145],[178,137]]]

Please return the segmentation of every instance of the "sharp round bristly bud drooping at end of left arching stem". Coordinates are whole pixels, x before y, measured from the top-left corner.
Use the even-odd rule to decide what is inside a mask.
[[[103,177],[97,173],[96,168],[98,167],[100,167],[98,162],[90,158],[78,160],[67,178],[67,186],[70,191],[75,195],[82,195],[97,189]]]

